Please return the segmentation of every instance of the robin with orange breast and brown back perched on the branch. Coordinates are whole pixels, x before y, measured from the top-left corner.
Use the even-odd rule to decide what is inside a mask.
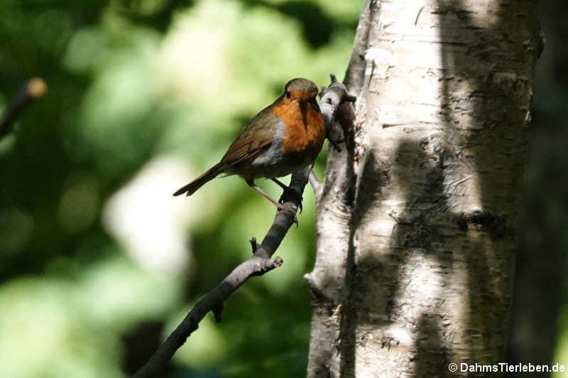
[[[311,165],[322,149],[325,126],[317,92],[316,85],[308,79],[290,80],[284,93],[244,127],[220,162],[173,195],[190,196],[219,174],[238,174],[278,210],[290,210],[257,187],[254,179],[272,179],[284,194],[297,196],[276,177]]]

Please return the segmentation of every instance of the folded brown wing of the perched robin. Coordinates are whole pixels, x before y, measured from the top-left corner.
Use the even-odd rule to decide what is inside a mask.
[[[258,113],[234,140],[219,163],[234,165],[255,157],[272,143],[282,121],[272,113],[272,106]]]

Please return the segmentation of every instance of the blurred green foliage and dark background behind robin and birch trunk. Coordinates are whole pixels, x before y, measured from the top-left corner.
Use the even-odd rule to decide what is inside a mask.
[[[564,2],[543,1],[510,358],[549,345],[545,355],[568,365]],[[125,377],[249,257],[274,216],[266,199],[235,177],[171,194],[289,79],[342,79],[362,4],[1,2],[0,109],[30,77],[49,92],[0,140],[0,377]],[[310,187],[304,198],[278,250],[283,267],[231,296],[222,323],[204,318],[165,376],[305,375]]]

